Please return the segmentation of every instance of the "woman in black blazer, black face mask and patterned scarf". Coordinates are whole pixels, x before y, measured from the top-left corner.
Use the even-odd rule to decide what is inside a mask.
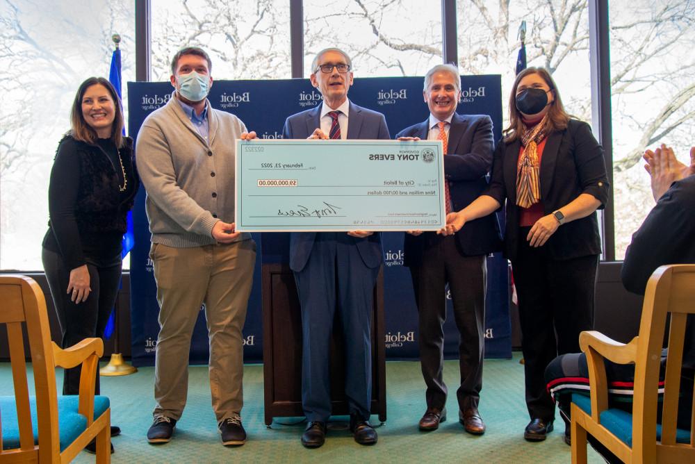
[[[524,438],[541,441],[555,419],[543,370],[557,354],[578,351],[579,333],[594,324],[601,252],[596,209],[605,205],[609,186],[603,149],[589,124],[565,112],[546,69],[530,67],[516,76],[509,115],[489,187],[448,215],[441,233],[455,233],[507,201],[505,254],[518,295],[531,418]]]

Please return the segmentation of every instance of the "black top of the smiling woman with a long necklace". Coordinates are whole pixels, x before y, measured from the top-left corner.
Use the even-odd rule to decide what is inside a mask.
[[[121,192],[123,171],[127,185]],[[51,169],[44,248],[63,256],[70,270],[120,256],[126,215],[138,185],[131,138],[116,149],[110,139],[88,144],[67,135],[58,144]]]

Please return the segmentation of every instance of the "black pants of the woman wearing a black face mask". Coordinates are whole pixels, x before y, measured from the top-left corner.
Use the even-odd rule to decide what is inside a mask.
[[[525,397],[532,419],[555,418],[555,404],[543,372],[558,354],[576,353],[579,333],[594,327],[598,255],[555,260],[544,247],[533,248],[521,228],[512,262],[524,357]]]

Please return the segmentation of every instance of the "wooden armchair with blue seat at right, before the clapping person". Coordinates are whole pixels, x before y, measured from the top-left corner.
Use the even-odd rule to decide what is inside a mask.
[[[627,345],[590,331],[580,334],[587,354],[591,399],[572,396],[572,463],[587,462],[587,433],[625,463],[695,463],[695,442],[690,431],[676,428],[685,322],[695,313],[695,265],[659,267],[644,295],[639,335]],[[664,382],[663,413],[657,425],[657,389],[667,326],[669,354]],[[632,414],[608,404],[608,383],[603,359],[635,364]],[[695,425],[695,413],[690,429]]]

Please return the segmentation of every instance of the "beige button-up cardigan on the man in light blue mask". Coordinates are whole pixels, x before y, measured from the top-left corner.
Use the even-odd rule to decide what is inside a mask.
[[[234,222],[235,147],[246,126],[206,101],[206,142],[175,98],[149,115],[138,133],[149,231],[152,242],[169,247],[212,245],[215,223]],[[242,233],[237,240],[248,238]]]

